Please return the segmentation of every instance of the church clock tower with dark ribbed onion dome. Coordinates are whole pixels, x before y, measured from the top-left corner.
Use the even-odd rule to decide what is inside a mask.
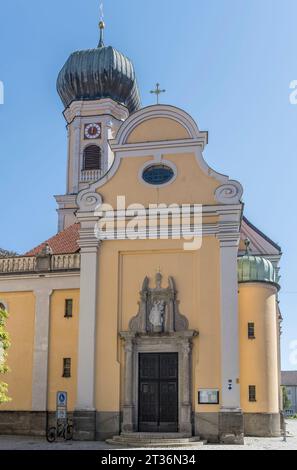
[[[99,29],[98,47],[72,53],[57,80],[68,132],[66,194],[56,196],[59,232],[76,222],[78,192],[108,172],[114,160],[109,140],[140,108],[131,60],[105,46],[103,21]]]

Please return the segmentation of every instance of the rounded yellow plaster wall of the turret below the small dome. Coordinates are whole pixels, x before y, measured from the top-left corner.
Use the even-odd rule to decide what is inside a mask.
[[[278,413],[278,340],[276,289],[252,283],[240,284],[240,384],[241,405],[246,413]],[[248,339],[248,323],[255,323],[255,340]],[[256,386],[255,403],[248,387]]]

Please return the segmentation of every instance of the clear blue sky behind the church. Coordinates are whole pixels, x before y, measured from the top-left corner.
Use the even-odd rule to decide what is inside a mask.
[[[98,42],[98,0],[1,4],[0,247],[22,253],[57,229],[66,131],[55,89],[68,55]],[[143,105],[164,102],[209,131],[216,170],[239,180],[247,217],[284,252],[283,368],[297,340],[296,0],[105,0],[106,43],[134,61]]]

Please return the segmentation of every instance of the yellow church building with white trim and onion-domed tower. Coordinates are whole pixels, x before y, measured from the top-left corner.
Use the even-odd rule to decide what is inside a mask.
[[[44,435],[65,391],[77,440],[278,436],[281,249],[204,160],[207,132],[174,106],[141,107],[132,62],[100,28],[57,81],[58,233],[0,258],[0,433]]]

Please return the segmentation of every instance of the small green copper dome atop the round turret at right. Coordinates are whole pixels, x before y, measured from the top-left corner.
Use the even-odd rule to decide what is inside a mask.
[[[246,253],[237,261],[238,282],[267,282],[279,287],[279,276],[271,261],[262,256],[251,255],[248,239],[245,241],[245,245]]]

